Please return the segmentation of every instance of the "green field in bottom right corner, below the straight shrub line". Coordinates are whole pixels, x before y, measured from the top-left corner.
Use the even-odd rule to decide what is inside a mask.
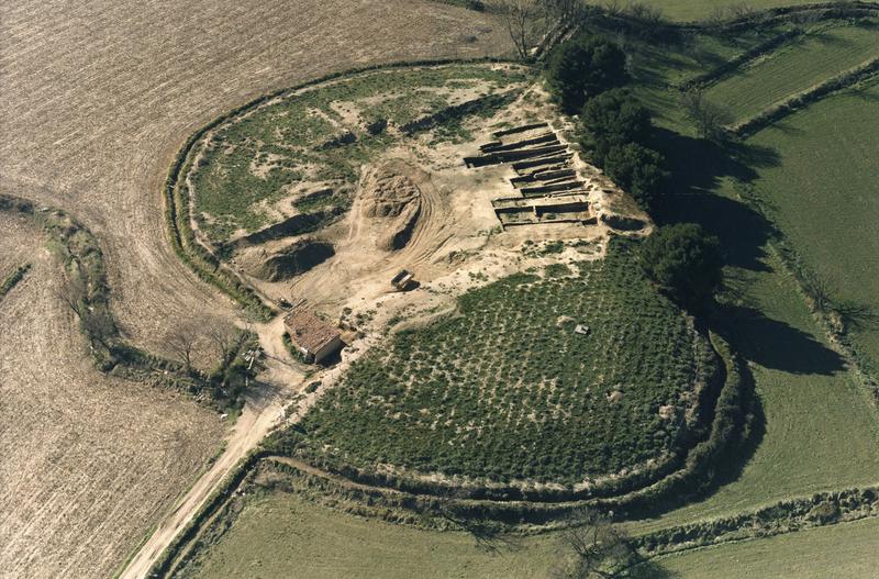
[[[879,519],[733,543],[660,559],[681,579],[876,577]]]

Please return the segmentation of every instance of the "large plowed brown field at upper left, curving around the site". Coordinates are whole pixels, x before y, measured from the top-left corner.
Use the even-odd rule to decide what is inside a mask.
[[[507,51],[499,25],[423,1],[26,1],[0,9],[0,190],[104,243],[115,312],[162,352],[173,321],[232,304],[165,243],[159,186],[199,125],[264,92],[372,63]]]

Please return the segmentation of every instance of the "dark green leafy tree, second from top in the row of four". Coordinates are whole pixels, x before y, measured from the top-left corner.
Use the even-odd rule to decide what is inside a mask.
[[[643,143],[650,134],[650,111],[625,89],[612,89],[590,99],[580,114],[580,145],[603,165],[614,147]]]

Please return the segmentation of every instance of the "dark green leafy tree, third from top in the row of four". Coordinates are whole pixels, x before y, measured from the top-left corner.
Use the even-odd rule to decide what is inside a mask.
[[[663,168],[663,156],[637,143],[615,147],[604,159],[604,171],[635,198],[644,209],[649,209],[668,179]]]

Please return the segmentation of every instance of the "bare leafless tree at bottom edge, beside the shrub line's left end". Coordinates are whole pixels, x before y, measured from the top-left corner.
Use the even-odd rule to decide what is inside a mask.
[[[554,575],[559,579],[614,577],[635,555],[625,532],[591,509],[571,514],[563,543],[572,557],[556,569]]]

